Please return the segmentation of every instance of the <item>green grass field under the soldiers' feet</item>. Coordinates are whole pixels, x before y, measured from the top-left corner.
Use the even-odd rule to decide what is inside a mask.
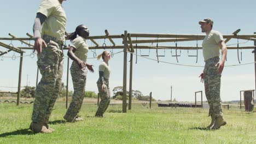
[[[210,124],[207,109],[158,107],[133,104],[121,113],[121,105],[110,105],[104,118],[94,117],[97,105],[82,106],[83,122],[66,123],[63,102],[57,102],[50,117],[52,134],[28,130],[32,104],[0,103],[0,143],[256,143],[256,113],[224,110],[228,124],[219,130]]]

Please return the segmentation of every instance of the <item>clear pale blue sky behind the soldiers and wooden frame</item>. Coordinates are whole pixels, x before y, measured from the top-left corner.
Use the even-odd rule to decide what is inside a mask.
[[[9,37],[8,33],[16,37],[26,37],[26,33],[32,34],[32,26],[40,1],[5,1],[1,4],[0,37]],[[222,34],[231,34],[240,28],[239,34],[253,34],[256,32],[255,1],[71,1],[63,2],[67,15],[67,32],[73,32],[75,27],[85,24],[90,29],[90,35],[104,35],[108,29],[109,34],[128,33],[177,33],[177,34],[202,34],[200,21],[203,17],[212,17],[214,20],[213,29]],[[121,41],[114,39],[120,45]],[[6,44],[10,41],[1,40]],[[103,40],[97,40],[102,45]],[[240,40],[240,42],[247,42]],[[26,46],[19,41],[12,41],[14,46]],[[33,44],[33,41],[31,41]],[[67,44],[69,42],[67,41]],[[201,46],[201,41],[198,42]],[[229,44],[236,44],[236,40],[230,40]],[[89,46],[91,41],[88,41]],[[106,44],[110,42],[106,40]],[[151,45],[151,44],[144,44]],[[156,45],[156,44],[153,44]],[[159,45],[174,46],[174,43]],[[178,43],[178,45],[195,46],[195,41]],[[233,45],[236,46],[236,45]],[[253,46],[249,41],[240,46]],[[0,51],[6,51],[0,47]],[[114,50],[119,52],[121,50]],[[241,63],[254,61],[252,50],[242,50]],[[26,50],[24,55],[30,55],[32,51]],[[102,50],[97,50],[97,55]],[[67,51],[65,51],[66,55]],[[148,53],[148,50],[142,50]],[[164,53],[164,51],[160,51]],[[195,51],[189,51],[195,53]],[[177,63],[175,57],[171,57],[170,50],[166,50],[166,56],[161,61]],[[19,53],[9,52],[4,56],[19,56]],[[187,50],[183,50],[179,57],[179,63],[204,65],[202,51],[199,50],[199,62],[195,63],[194,57],[188,57]],[[90,51],[88,57],[93,57]],[[129,59],[128,55],[128,59]],[[150,50],[150,58],[156,58],[155,50]],[[37,58],[24,57],[22,69],[22,86],[36,85],[36,61]],[[135,59],[134,59],[135,61]],[[94,64],[96,73],[89,73],[86,81],[86,91],[97,92],[96,81],[98,79],[98,64],[100,61],[88,59],[88,63]],[[228,61],[225,65],[238,64],[237,51],[228,51]],[[123,85],[123,53],[115,55],[110,60],[112,73],[110,75],[110,87]],[[18,86],[19,58],[13,61],[11,58],[3,57],[0,61],[0,89],[17,91],[17,88],[5,88]],[[127,72],[129,74],[127,65]],[[157,63],[148,59],[138,58],[137,64],[133,63],[133,89],[141,91],[144,95],[153,93],[153,98],[170,99],[170,87],[173,87],[173,98],[179,101],[193,101],[194,92],[203,91],[203,84],[200,83],[199,75],[203,68],[183,67],[165,63]],[[70,74],[70,73],[69,73]],[[67,58],[65,59],[63,79],[66,83]],[[223,101],[239,99],[239,91],[254,89],[254,65],[243,65],[237,67],[225,67],[222,75],[221,97]],[[129,80],[129,75],[127,75]],[[65,84],[66,85],[66,84]],[[129,86],[129,81],[127,82]],[[69,89],[73,89],[71,76],[69,76]],[[129,87],[127,87],[129,89]],[[203,100],[206,100],[203,93]]]

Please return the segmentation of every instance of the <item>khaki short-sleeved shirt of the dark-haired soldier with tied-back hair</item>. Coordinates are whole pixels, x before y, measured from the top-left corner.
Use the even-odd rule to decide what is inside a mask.
[[[86,62],[87,53],[89,51],[89,47],[86,43],[86,39],[78,36],[72,41],[71,46],[75,48],[74,55],[79,59],[81,59],[81,61]]]

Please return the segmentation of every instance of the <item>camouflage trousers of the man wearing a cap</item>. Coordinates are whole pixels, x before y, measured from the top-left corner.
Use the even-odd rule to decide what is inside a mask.
[[[218,67],[215,65],[219,62],[219,57],[214,57],[206,61],[203,70],[205,81],[205,95],[210,106],[209,116],[223,116],[222,103],[220,100],[220,77]]]

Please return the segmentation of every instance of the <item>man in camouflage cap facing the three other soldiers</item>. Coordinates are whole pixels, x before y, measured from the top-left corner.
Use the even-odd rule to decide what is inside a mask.
[[[199,21],[199,25],[201,25],[202,32],[206,33],[206,37],[202,41],[205,68],[199,77],[201,77],[201,82],[205,82],[205,95],[210,106],[208,116],[211,116],[212,121],[207,129],[219,129],[226,124],[220,100],[220,77],[228,50],[222,34],[212,29],[213,20],[211,18],[202,19]],[[222,51],[221,60],[219,50]]]

